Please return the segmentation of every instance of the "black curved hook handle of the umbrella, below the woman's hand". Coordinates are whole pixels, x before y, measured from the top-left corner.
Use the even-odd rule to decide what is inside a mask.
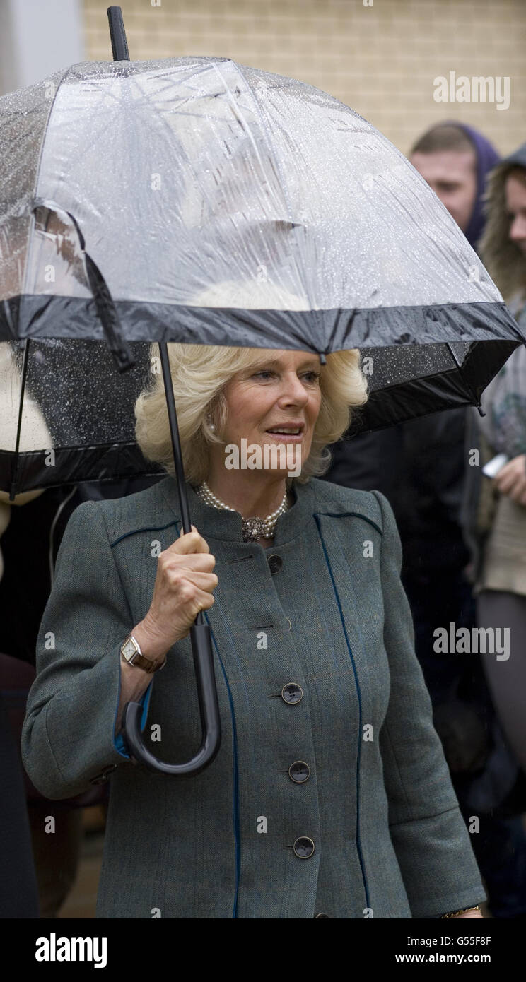
[[[213,673],[210,628],[205,624],[203,613],[198,614],[196,624],[190,628],[190,638],[194,653],[202,726],[202,742],[195,757],[192,757],[192,760],[187,761],[186,764],[165,764],[164,761],[157,760],[143,742],[141,733],[143,706],[139,702],[127,702],[124,708],[121,736],[130,756],[144,764],[149,770],[160,771],[162,774],[199,774],[211,763],[221,741],[221,723]]]

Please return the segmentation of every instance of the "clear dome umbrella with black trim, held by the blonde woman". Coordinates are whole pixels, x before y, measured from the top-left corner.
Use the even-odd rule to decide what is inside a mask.
[[[169,342],[301,350],[321,361],[358,348],[371,395],[353,432],[479,406],[525,338],[405,157],[304,82],[215,56],[131,62],[120,10],[109,14],[120,60],[74,65],[0,99],[0,341],[26,351],[46,339],[106,342],[123,373],[135,370],[135,343],[159,343],[185,532]],[[55,384],[59,411],[58,364]],[[11,489],[14,473],[19,493],[42,478],[45,486],[51,469],[54,482],[99,476],[93,442],[85,457],[84,435],[53,439],[68,441],[54,468],[26,466],[20,443],[18,455],[4,448],[18,463],[6,465],[1,486]],[[133,439],[114,446],[106,431],[103,442],[104,473],[114,465],[118,477],[132,466]],[[29,448],[33,462],[37,451]],[[203,614],[193,646],[197,632],[213,715]],[[196,671],[204,719],[199,659]],[[188,774],[213,759],[218,717],[213,752],[195,766],[156,761],[140,715],[129,704],[125,731],[146,766]]]

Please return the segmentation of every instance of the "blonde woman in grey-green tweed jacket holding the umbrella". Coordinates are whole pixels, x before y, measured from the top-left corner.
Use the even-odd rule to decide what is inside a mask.
[[[168,350],[193,530],[180,534],[153,346],[137,437],[168,474],[70,519],[24,727],[47,796],[111,775],[97,916],[480,917],[392,511],[378,491],[320,479],[367,399],[358,352],[321,364],[305,351]],[[231,465],[243,446],[250,463]],[[199,611],[221,745],[199,775],[173,778],[130,760],[121,719],[143,701],[155,756],[193,755]]]

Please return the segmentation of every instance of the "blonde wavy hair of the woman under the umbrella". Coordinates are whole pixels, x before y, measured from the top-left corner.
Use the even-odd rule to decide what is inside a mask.
[[[223,389],[233,376],[252,367],[262,367],[268,352],[258,348],[224,346],[167,346],[185,476],[199,485],[208,475],[208,447],[224,444],[221,432],[227,419]],[[166,409],[164,383],[160,371],[158,345],[150,346],[152,381],[135,405],[136,438],[146,460],[161,464],[175,473],[172,443]],[[367,380],[360,367],[360,354],[353,349],[326,355],[321,365],[321,407],[313,434],[311,453],[296,480],[306,483],[325,472],[330,464],[327,444],[335,443],[347,430],[353,409],[368,399]],[[211,430],[206,419],[215,430]],[[290,479],[287,478],[287,483]]]

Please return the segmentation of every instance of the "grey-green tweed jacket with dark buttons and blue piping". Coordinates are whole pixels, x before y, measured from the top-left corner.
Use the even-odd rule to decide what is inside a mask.
[[[486,899],[414,653],[391,508],[378,491],[294,488],[265,550],[188,485],[216,558],[206,618],[222,726],[194,778],[146,771],[114,732],[119,648],[181,528],[175,481],[70,518],[22,750],[50,798],[111,775],[98,917],[433,917]],[[201,736],[190,637],[144,704],[156,756],[189,759]],[[296,762],[307,780],[292,780]]]

